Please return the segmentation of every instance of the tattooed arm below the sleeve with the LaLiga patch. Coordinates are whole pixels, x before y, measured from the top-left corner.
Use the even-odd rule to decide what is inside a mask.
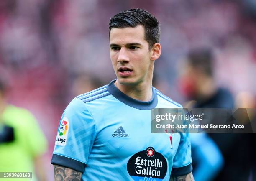
[[[82,172],[54,165],[54,181],[81,181]]]

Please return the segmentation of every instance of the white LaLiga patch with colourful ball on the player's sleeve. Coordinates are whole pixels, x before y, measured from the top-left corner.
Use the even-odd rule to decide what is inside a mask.
[[[65,146],[67,143],[67,135],[69,133],[69,120],[67,117],[64,117],[61,120],[61,126],[58,131],[56,138],[56,145]]]

